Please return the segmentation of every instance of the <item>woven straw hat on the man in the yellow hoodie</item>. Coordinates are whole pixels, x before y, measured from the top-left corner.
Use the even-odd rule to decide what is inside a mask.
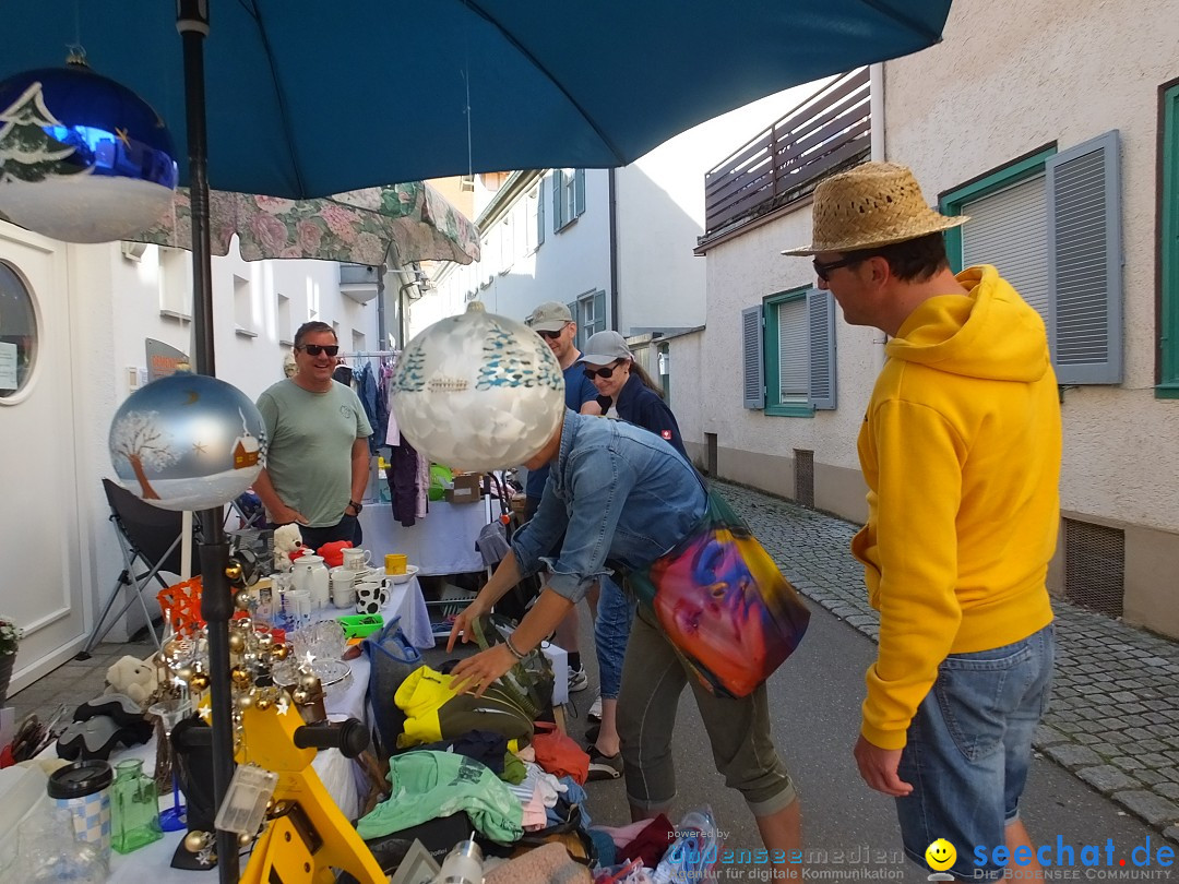
[[[810,245],[783,255],[850,252],[903,243],[956,227],[966,215],[948,217],[930,209],[907,166],[864,163],[831,176],[815,189]]]

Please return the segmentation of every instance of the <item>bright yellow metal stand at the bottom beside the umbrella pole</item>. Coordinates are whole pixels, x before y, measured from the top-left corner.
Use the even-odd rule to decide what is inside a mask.
[[[278,774],[274,811],[242,875],[244,884],[331,884],[335,869],[361,884],[388,884],[373,852],[348,822],[311,767],[315,748],[301,748],[304,727],[296,710],[279,713],[277,704],[251,706],[243,713],[245,739],[239,764],[256,764]],[[309,728],[310,730],[310,728]]]

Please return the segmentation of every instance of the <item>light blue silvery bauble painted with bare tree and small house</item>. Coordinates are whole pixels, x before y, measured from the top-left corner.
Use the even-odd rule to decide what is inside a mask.
[[[111,423],[111,462],[127,490],[164,509],[211,509],[253,483],[262,415],[224,381],[178,371],[139,388]]]

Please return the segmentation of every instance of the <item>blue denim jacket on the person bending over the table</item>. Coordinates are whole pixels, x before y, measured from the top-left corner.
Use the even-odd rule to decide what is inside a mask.
[[[548,586],[577,602],[611,573],[607,560],[646,567],[687,536],[706,507],[696,470],[659,436],[567,410],[540,508],[512,549],[522,575],[547,568]]]

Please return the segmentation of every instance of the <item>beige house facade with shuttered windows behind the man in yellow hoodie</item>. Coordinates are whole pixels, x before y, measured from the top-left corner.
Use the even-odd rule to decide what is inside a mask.
[[[1049,586],[1171,636],[1179,636],[1175,45],[1179,18],[1162,0],[1082,4],[1067,15],[1047,0],[957,0],[940,45],[872,71],[870,151],[849,160],[911,166],[931,204],[973,218],[948,238],[951,263],[999,265],[1045,315],[1065,425]],[[771,209],[697,250],[707,263],[706,328],[674,339],[671,362],[673,391],[700,395],[676,397],[676,411],[692,454],[720,476],[859,521],[855,442],[883,336],[845,324],[837,309],[825,338],[799,324],[814,276],[806,260],[778,252],[809,240],[810,203],[801,192]],[[758,316],[763,338],[751,348],[749,319]],[[814,407],[814,389],[804,395],[805,371],[798,382],[788,364],[798,347],[810,348],[812,387],[816,349],[830,351],[834,404]],[[751,358],[762,363],[760,407],[746,401]]]

